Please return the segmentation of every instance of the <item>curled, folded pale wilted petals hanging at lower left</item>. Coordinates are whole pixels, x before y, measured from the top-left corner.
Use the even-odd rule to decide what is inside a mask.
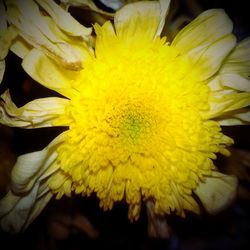
[[[60,167],[56,149],[64,135],[41,151],[18,157],[11,173],[10,191],[0,201],[0,225],[4,231],[24,230],[52,198],[47,182]]]

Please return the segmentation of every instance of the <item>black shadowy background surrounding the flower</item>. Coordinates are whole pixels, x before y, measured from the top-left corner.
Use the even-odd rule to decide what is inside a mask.
[[[193,18],[200,10],[224,8],[234,22],[234,34],[238,40],[242,40],[250,34],[250,13],[247,5],[248,1],[243,0],[182,0],[174,1],[171,7],[177,9],[174,18],[179,15]],[[105,6],[102,7],[105,8]],[[82,17],[74,9],[72,9],[72,15],[75,15],[81,21]],[[82,18],[82,20],[86,22],[86,19]],[[3,83],[0,85],[0,93],[9,88],[17,106],[40,97],[58,96],[57,93],[30,79],[22,70],[20,63],[21,61],[15,55],[9,53],[6,58],[7,67]],[[5,160],[6,165],[8,165],[8,162],[9,165],[12,165],[16,156],[42,149],[65,129],[67,128],[24,130],[1,126],[1,162]],[[88,198],[78,196],[71,199],[63,198],[60,201],[52,200],[25,232],[16,235],[1,232],[0,249],[16,249],[17,247],[26,250],[95,248],[137,250],[250,249],[250,166],[244,161],[249,157],[250,152],[250,130],[249,126],[236,126],[223,128],[223,130],[225,134],[235,139],[235,145],[232,148],[232,156],[228,159],[220,157],[217,160],[217,165],[225,172],[238,175],[240,187],[235,203],[219,215],[211,216],[204,211],[200,216],[187,213],[186,219],[168,215],[166,219],[170,230],[169,238],[153,239],[148,237],[145,207],[142,208],[140,219],[131,223],[127,219],[126,204],[117,204],[112,211],[104,212],[99,208],[94,195]],[[8,160],[7,163],[6,160]],[[10,166],[6,167],[7,170],[10,168]],[[2,183],[8,182],[8,171],[3,172],[1,178],[3,179],[2,182],[0,180],[1,194],[3,194]],[[91,238],[81,230],[76,230],[72,226],[67,227],[62,223],[62,227],[68,228],[68,234],[61,239],[57,239],[51,226],[53,219],[58,215],[74,217],[76,213],[81,213],[89,219],[99,232],[97,238]]]

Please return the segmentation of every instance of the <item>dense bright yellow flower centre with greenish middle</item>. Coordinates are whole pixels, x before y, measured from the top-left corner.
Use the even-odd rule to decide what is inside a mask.
[[[157,39],[134,50],[115,42],[73,83],[61,169],[76,193],[95,192],[104,208],[125,197],[133,210],[143,197],[159,213],[178,210],[176,199],[196,188],[231,141],[203,118],[209,88],[175,48]]]

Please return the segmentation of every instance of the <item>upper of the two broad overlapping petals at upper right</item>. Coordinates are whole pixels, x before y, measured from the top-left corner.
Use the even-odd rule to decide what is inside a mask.
[[[211,9],[200,14],[184,27],[173,40],[173,45],[183,53],[197,47],[208,47],[218,39],[230,34],[233,25],[224,10]]]

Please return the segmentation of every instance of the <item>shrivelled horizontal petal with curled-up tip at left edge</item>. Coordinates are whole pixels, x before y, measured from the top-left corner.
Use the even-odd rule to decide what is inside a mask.
[[[3,101],[0,101],[0,122],[11,127],[22,128],[53,126],[53,122],[64,113],[69,101],[58,97],[41,98],[17,108],[8,90],[1,95],[1,98]],[[57,125],[60,124],[57,123]]]

